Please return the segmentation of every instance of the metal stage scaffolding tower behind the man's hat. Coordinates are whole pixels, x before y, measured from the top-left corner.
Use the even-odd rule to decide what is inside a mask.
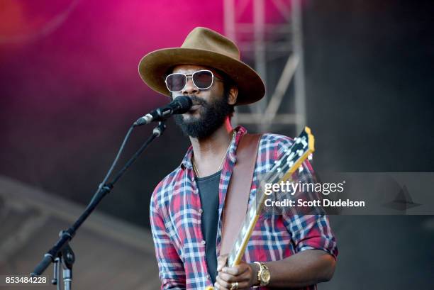
[[[223,9],[226,36],[235,40],[267,88],[264,99],[249,110],[236,108],[234,125],[252,124],[262,132],[279,125],[300,132],[306,126],[301,0],[223,0]],[[268,19],[267,11],[277,11],[281,21]],[[284,60],[278,73],[272,69],[279,65],[270,63],[277,59]]]

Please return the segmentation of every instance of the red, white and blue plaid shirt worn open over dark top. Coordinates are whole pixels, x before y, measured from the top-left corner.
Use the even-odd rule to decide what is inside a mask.
[[[219,184],[217,257],[221,246],[222,210],[230,175],[235,165],[235,150],[247,131],[238,127],[223,164]],[[274,160],[291,147],[293,141],[283,135],[264,134],[258,148],[249,206],[255,204],[259,174],[269,172]],[[161,289],[201,289],[212,286],[205,259],[205,240],[201,231],[201,200],[195,182],[191,157],[192,147],[182,164],[157,185],[150,201],[150,222],[160,270]],[[304,167],[311,171],[308,162]],[[324,250],[338,255],[335,238],[327,216],[260,216],[247,244],[245,262],[267,262],[308,249]],[[306,289],[316,289],[316,285]]]

